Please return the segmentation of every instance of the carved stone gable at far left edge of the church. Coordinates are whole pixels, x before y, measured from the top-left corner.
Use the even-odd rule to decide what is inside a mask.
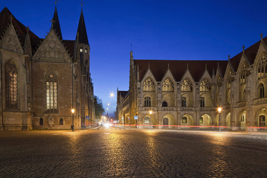
[[[1,41],[1,48],[23,54],[17,33],[12,24],[7,29],[7,32]]]

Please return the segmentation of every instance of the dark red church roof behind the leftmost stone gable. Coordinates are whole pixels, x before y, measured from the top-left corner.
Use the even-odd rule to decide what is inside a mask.
[[[27,34],[27,27],[25,27],[21,22],[19,22],[14,15],[5,7],[1,13],[0,13],[0,35],[3,36],[2,33],[5,34],[5,30],[9,27],[8,24],[10,24],[10,18],[9,15],[13,16],[13,26],[15,30],[17,30],[18,38],[20,42],[22,43],[22,46],[25,42],[25,37]],[[30,40],[31,40],[31,47],[32,47],[32,53],[36,50],[35,48],[38,48],[38,44],[40,45],[40,38],[37,37],[32,31],[29,30]]]

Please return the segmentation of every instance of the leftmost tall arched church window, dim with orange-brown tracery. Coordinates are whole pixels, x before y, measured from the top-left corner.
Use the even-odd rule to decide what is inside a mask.
[[[18,69],[12,61],[5,65],[6,108],[17,109]]]

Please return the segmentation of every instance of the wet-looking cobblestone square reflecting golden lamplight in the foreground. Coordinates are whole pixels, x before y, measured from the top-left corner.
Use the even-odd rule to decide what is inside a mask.
[[[267,135],[76,131],[0,132],[0,177],[267,177]]]

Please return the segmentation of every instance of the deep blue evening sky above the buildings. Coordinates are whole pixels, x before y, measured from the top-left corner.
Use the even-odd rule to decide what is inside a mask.
[[[266,1],[83,1],[95,95],[105,108],[111,103],[109,116],[117,86],[129,89],[131,43],[134,59],[227,60],[267,35]],[[54,2],[1,1],[0,8],[44,38]],[[59,0],[57,11],[63,39],[74,40],[80,0]]]

